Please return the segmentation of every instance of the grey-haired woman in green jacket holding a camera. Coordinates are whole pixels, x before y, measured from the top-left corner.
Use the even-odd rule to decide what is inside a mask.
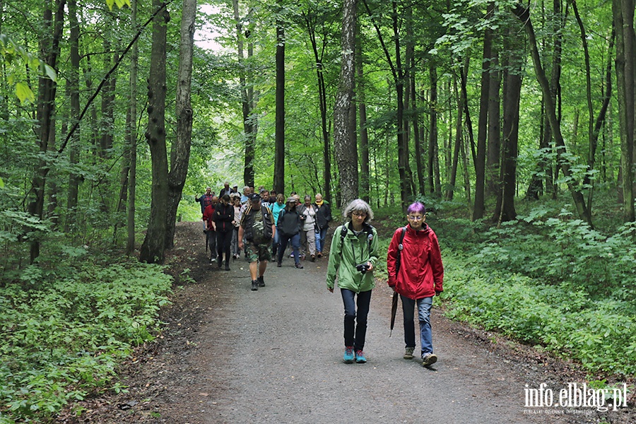
[[[344,304],[345,363],[365,363],[365,336],[371,291],[375,287],[373,269],[377,261],[377,231],[370,225],[373,211],[367,202],[355,199],[346,206],[347,222],[336,228],[331,239],[327,290],[334,293],[336,274]],[[356,313],[356,298],[358,311]]]

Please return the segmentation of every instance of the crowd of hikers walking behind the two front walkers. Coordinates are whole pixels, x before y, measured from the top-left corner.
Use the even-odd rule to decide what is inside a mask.
[[[249,186],[243,187],[242,194],[237,189],[225,182],[219,196],[207,187],[204,195],[195,198],[201,204],[206,247],[211,249],[211,259],[219,269],[225,264],[229,271],[230,256],[237,259],[244,253],[253,271],[252,290],[258,290],[265,285],[267,262],[275,257],[277,265],[282,266],[288,245],[298,269],[303,268],[301,259],[315,261],[322,257],[332,219],[329,202],[322,194],[316,194],[314,202],[307,194],[301,203],[295,192],[285,201],[282,193],[264,187],[259,187],[258,193]]]

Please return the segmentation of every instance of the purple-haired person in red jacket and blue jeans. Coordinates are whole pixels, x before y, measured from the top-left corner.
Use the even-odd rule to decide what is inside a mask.
[[[432,297],[442,293],[444,266],[437,235],[424,222],[426,208],[416,202],[406,211],[408,225],[398,228],[387,254],[389,287],[399,293],[404,312],[404,359],[412,359],[416,346],[413,310],[418,305],[422,365],[429,367],[437,361],[433,353],[430,329]]]

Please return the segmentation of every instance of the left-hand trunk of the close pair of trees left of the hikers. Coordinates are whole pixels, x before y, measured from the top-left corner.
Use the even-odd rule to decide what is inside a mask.
[[[153,0],[153,7],[160,8],[161,1]],[[154,18],[151,71],[148,77],[146,141],[151,151],[153,184],[150,222],[146,238],[141,245],[139,259],[149,264],[161,264],[165,259],[165,223],[168,203],[168,166],[165,146],[165,58],[168,21],[170,21],[170,14],[165,8]]]

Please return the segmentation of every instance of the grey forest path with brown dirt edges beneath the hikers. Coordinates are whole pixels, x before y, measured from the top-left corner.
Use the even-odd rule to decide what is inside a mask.
[[[243,258],[231,271],[211,264],[201,223],[179,223],[175,242],[172,305],[161,312],[157,340],[119,369],[126,391],[90,396],[55,423],[636,423],[633,394],[618,411],[526,407],[526,389],[545,383],[543,395],[550,389],[558,401],[561,389],[582,387],[586,375],[540,350],[452,322],[439,302],[432,312],[439,360],[430,368],[404,360],[401,312],[389,338],[391,290],[380,281],[368,362],[345,364],[342,300],[326,290],[326,257],[303,261],[304,269],[293,259],[281,268],[272,262],[266,287],[251,291]]]

